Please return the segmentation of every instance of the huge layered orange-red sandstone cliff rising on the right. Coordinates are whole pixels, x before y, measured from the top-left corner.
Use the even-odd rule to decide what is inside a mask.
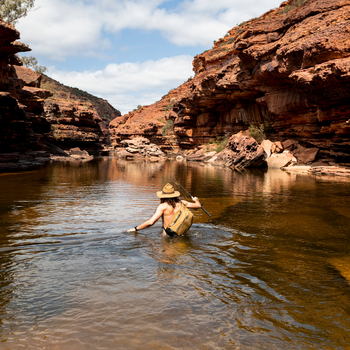
[[[164,124],[157,121],[171,118],[182,147],[264,124],[273,141],[290,138],[319,147],[322,156],[348,158],[349,31],[350,0],[283,2],[197,55],[189,83],[112,121],[114,143],[146,134],[161,143]]]

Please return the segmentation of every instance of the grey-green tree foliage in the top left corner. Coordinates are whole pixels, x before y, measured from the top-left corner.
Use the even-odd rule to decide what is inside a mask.
[[[15,24],[34,7],[34,0],[0,0],[0,16],[8,23]]]

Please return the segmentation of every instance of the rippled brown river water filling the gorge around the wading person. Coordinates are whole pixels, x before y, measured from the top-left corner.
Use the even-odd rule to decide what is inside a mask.
[[[212,214],[185,237],[125,232],[160,166]],[[348,349],[349,184],[114,158],[0,174],[0,349]]]

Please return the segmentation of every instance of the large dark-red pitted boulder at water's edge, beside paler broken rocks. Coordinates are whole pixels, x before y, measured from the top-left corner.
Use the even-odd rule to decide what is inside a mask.
[[[264,163],[266,153],[257,141],[244,135],[232,135],[226,148],[217,154],[212,165],[235,168],[254,168]]]

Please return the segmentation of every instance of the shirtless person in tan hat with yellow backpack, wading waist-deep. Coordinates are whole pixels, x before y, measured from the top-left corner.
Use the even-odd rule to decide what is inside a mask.
[[[127,230],[127,232],[139,231],[146,229],[161,217],[163,221],[163,235],[180,236],[186,233],[192,225],[193,214],[187,208],[201,208],[201,203],[197,197],[192,197],[195,203],[180,200],[180,192],[174,191],[173,185],[167,183],[162,191],[157,192],[160,198],[160,204],[151,217],[139,226]]]

